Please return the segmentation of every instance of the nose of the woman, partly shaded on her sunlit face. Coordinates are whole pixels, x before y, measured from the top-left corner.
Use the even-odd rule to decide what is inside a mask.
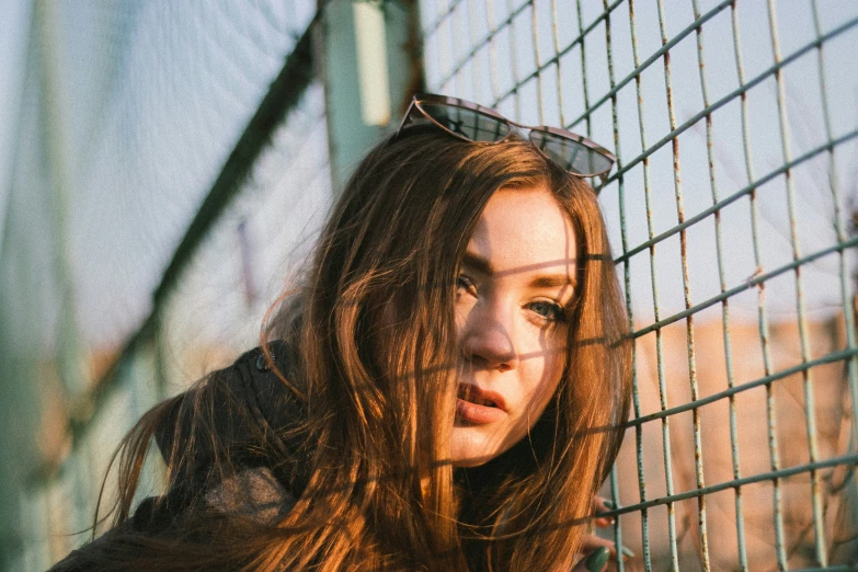
[[[508,371],[518,366],[510,313],[491,302],[471,308],[465,322],[461,352],[477,368]]]

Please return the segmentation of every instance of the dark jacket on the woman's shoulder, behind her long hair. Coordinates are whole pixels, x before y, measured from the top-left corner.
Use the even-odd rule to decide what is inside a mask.
[[[293,361],[286,344],[272,342],[270,348],[277,368],[288,376]],[[214,435],[209,425],[199,426],[193,419],[198,387],[175,400],[156,431],[164,460],[174,445],[181,448],[194,439],[195,455],[181,468],[187,474],[178,479],[191,484],[144,500],[123,525],[73,550],[52,571],[105,570],[94,562],[110,561],[117,544],[134,541],[138,535],[171,535],[192,510],[273,524],[291,508],[306,485],[309,459],[302,449],[305,439],[283,436],[305,419],[301,402],[268,367],[260,348],[215,371],[206,384],[214,398],[207,400],[214,405]],[[233,466],[226,476],[215,471],[215,459],[224,451]]]

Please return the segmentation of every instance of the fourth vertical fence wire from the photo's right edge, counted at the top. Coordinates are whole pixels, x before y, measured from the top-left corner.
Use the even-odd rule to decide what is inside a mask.
[[[695,20],[700,19],[700,7],[698,0],[691,0]],[[703,107],[709,106],[709,87],[706,81],[706,61],[703,54],[703,30],[697,28],[697,62],[700,75],[700,91],[703,96]],[[714,156],[713,156],[713,136],[712,136],[712,115],[706,116],[706,152],[709,162],[709,184],[712,191],[712,204],[718,204],[718,182],[716,178]],[[727,290],[727,279],[724,278],[723,243],[721,237],[721,211],[714,211],[716,230],[716,255],[718,259],[718,279],[721,294]],[[730,343],[730,306],[729,298],[721,301],[721,320],[724,331],[724,368],[727,371],[727,387],[733,388],[735,380],[733,378],[733,354]],[[739,437],[736,426],[736,405],[735,397],[729,396],[730,408],[730,455],[733,468],[733,479],[742,478],[742,470],[739,461]],[[742,488],[735,488],[735,512],[736,512],[736,544],[739,548],[739,569],[747,571],[747,553],[745,550],[745,524],[742,510]]]

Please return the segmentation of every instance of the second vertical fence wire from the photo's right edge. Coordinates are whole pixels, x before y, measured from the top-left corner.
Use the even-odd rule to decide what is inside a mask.
[[[780,41],[778,38],[778,23],[777,12],[775,10],[774,0],[768,1],[768,20],[769,28],[771,33],[771,53],[775,57],[775,62],[780,61]],[[775,81],[777,83],[777,100],[778,100],[778,123],[780,124],[780,142],[781,151],[783,153],[783,162],[789,163],[791,160],[792,151],[790,150],[789,142],[789,123],[787,118],[787,96],[783,87],[783,77],[781,69],[778,68],[775,71]],[[790,222],[790,244],[792,247],[792,259],[798,260],[801,258],[801,247],[799,244],[799,230],[798,230],[798,214],[796,213],[796,187],[792,180],[791,170],[787,170],[783,173],[787,184],[787,207],[789,209],[789,222]],[[801,266],[797,265],[796,273],[796,307],[799,314],[799,340],[801,343],[801,361],[808,362],[811,357],[810,341],[808,339],[808,321],[804,310],[804,284],[801,277]],[[813,378],[811,377],[810,369],[803,373],[803,390],[804,390],[804,419],[806,423],[808,435],[808,454],[810,455],[811,462],[814,462],[819,458],[819,447],[816,445],[816,411],[813,399]],[[824,530],[824,516],[822,511],[822,490],[820,483],[820,476],[815,469],[811,469],[811,506],[813,510],[813,531],[815,539],[816,562],[824,567],[827,564],[828,558],[825,551],[825,530]]]

